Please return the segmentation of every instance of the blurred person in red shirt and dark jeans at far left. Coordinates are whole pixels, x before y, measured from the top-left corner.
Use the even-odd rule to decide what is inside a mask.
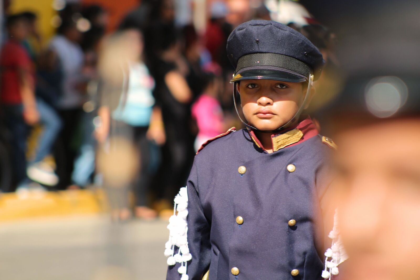
[[[22,15],[7,19],[9,39],[1,49],[1,105],[5,124],[11,131],[12,164],[15,183],[26,188],[26,137],[28,126],[39,121],[34,94],[34,68],[22,42],[28,36],[28,23]]]

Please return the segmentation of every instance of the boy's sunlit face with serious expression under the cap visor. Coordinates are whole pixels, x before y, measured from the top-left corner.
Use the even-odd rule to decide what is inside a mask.
[[[253,79],[238,87],[241,107],[247,121],[259,130],[275,130],[286,124],[299,110],[304,95],[302,83]]]

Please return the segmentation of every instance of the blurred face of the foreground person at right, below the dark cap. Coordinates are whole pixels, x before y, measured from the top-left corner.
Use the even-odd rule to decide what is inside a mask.
[[[336,139],[344,279],[419,279],[420,117],[352,128]]]

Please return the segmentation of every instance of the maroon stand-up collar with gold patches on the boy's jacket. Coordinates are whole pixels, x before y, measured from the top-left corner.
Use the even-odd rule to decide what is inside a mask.
[[[287,132],[290,131],[294,131],[295,129],[298,129],[299,131],[302,132],[302,137],[299,139],[299,141],[296,141],[292,144],[287,144],[285,147],[292,147],[294,145],[300,144],[304,141],[306,141],[307,139],[312,138],[313,136],[318,135],[318,129],[316,128],[315,124],[312,122],[312,119],[310,118],[310,116],[307,116],[307,118],[305,118],[304,120],[302,120],[300,123],[298,123],[296,126],[284,129],[283,131],[280,131],[277,134],[271,134],[271,144],[273,147],[273,151],[275,151],[275,144],[274,144],[274,139],[276,139],[276,137],[281,136]],[[251,136],[251,139],[254,141],[254,143],[257,145],[257,147],[263,149],[265,151],[265,149],[262,147],[262,144],[260,142],[260,140],[257,139],[257,136],[255,136],[255,132],[252,131],[251,129],[248,129],[249,132],[249,136]]]

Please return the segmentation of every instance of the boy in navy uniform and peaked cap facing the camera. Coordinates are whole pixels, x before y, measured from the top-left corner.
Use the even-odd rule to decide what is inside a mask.
[[[166,279],[328,278],[318,229],[334,144],[301,115],[323,57],[299,32],[264,20],[239,25],[227,53],[247,128],[231,128],[197,152],[174,200]]]

